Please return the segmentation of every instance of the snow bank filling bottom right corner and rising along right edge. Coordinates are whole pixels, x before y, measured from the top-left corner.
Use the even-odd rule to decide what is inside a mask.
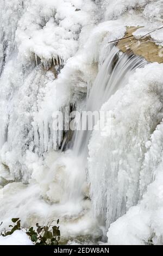
[[[152,241],[162,244],[162,122],[148,143],[140,172],[141,202],[110,225],[108,243],[142,245]]]

